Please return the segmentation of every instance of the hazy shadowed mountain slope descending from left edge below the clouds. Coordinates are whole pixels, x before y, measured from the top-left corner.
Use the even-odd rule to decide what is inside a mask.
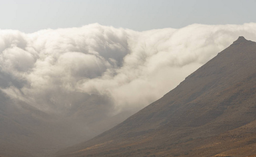
[[[68,122],[63,124],[63,117],[14,101],[2,91],[0,100],[0,156],[52,156],[59,147],[85,138]]]

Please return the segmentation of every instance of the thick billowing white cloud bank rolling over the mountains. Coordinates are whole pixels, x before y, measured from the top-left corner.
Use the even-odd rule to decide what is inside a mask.
[[[157,100],[239,36],[256,41],[256,24],[0,30],[0,87],[48,113],[97,123]]]

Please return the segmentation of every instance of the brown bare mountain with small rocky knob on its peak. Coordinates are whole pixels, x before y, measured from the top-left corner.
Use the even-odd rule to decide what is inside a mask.
[[[175,89],[58,156],[256,154],[256,42],[239,37]]]

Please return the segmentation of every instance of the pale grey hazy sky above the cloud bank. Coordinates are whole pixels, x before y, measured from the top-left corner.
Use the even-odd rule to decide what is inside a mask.
[[[256,21],[256,1],[0,0],[0,29],[26,33],[91,23],[133,30]]]

